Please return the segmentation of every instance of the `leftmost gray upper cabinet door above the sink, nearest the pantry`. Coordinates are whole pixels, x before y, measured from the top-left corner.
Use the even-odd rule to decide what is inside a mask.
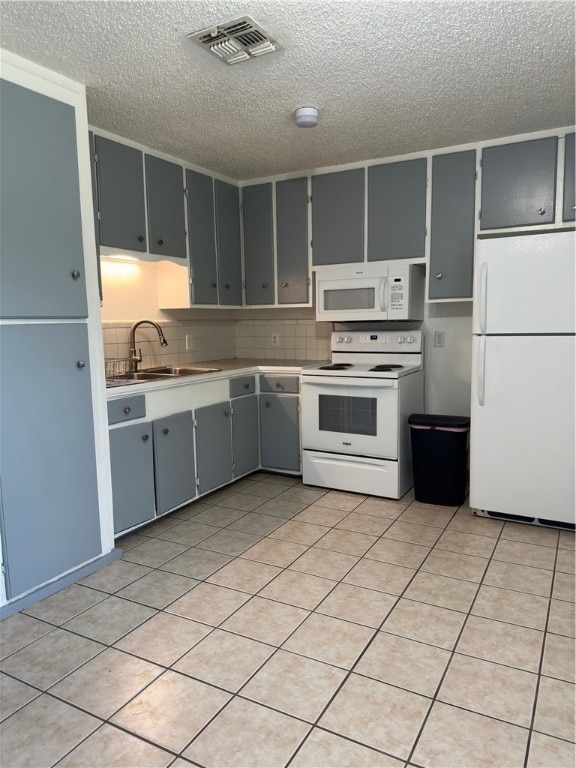
[[[142,152],[95,136],[100,242],[146,251]]]

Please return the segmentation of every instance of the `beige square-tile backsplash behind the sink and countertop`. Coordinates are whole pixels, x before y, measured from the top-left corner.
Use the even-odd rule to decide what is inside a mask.
[[[167,347],[160,346],[152,326],[143,325],[136,331],[136,348],[142,350],[143,368],[235,357],[265,360],[325,360],[330,357],[330,323],[314,320],[194,320],[188,323],[160,321],[158,324],[168,341]],[[129,357],[131,327],[131,323],[103,323],[106,358]]]

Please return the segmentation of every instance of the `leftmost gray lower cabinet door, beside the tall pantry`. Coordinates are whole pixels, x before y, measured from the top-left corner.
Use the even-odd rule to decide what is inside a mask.
[[[110,430],[114,533],[154,517],[152,424]]]

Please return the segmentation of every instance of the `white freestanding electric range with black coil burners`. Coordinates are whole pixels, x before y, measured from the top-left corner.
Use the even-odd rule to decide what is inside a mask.
[[[398,499],[413,485],[408,417],[424,410],[422,331],[339,331],[331,352],[302,369],[303,480]]]

